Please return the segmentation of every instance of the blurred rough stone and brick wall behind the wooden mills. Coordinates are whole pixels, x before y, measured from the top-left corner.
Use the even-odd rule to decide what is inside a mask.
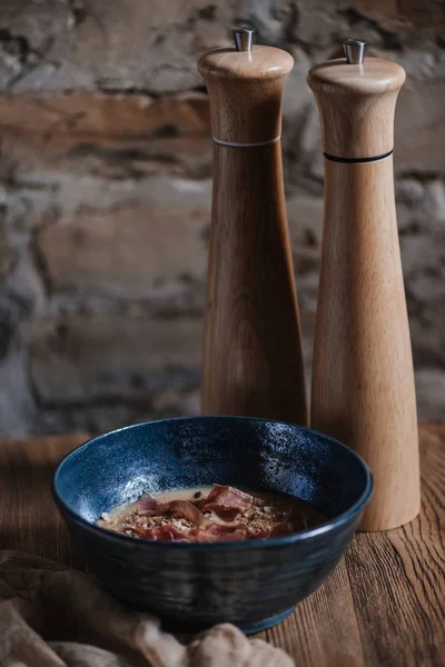
[[[396,190],[419,416],[445,415],[445,6],[0,0],[0,431],[199,409],[211,195],[196,59],[250,24],[295,58],[287,205],[309,372],[323,212],[305,77],[346,37],[407,71]]]

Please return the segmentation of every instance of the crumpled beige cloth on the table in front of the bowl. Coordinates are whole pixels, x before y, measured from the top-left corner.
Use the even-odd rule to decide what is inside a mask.
[[[0,551],[0,667],[293,667],[288,655],[219,625],[184,645],[67,566]]]

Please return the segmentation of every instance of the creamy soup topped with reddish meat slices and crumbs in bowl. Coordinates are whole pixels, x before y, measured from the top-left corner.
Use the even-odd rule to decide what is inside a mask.
[[[103,512],[97,525],[140,539],[205,542],[279,537],[325,520],[312,505],[287,494],[214,485],[142,494]]]

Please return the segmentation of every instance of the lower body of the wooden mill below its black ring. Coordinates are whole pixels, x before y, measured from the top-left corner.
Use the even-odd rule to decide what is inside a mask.
[[[417,515],[416,397],[392,157],[325,160],[310,421],[373,470],[364,530],[395,528]]]

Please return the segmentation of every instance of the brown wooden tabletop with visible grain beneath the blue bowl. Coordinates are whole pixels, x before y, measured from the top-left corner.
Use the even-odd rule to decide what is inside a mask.
[[[0,441],[0,547],[82,568],[50,495],[83,436]],[[421,426],[423,510],[405,528],[359,534],[327,581],[264,634],[297,667],[445,666],[445,425]]]

